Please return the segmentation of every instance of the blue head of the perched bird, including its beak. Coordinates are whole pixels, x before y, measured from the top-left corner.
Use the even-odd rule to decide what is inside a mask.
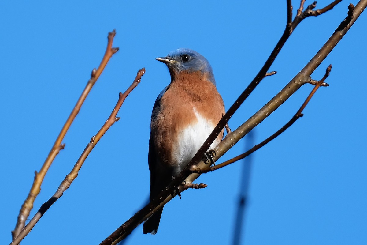
[[[201,54],[189,48],[179,48],[169,53],[166,57],[156,58],[168,66],[171,76],[175,77],[180,72],[201,72],[215,85],[213,70],[208,60]]]

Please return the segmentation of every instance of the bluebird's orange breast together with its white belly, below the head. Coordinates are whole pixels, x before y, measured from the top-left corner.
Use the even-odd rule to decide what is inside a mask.
[[[213,83],[201,72],[181,72],[161,97],[160,111],[151,123],[159,161],[176,170],[178,165],[184,167],[224,113],[222,97]],[[222,140],[223,132],[211,148]]]

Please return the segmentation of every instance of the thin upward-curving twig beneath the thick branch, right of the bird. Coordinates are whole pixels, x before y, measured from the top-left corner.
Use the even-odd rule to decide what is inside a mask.
[[[311,93],[308,95],[308,97],[306,98],[305,102],[302,104],[302,106],[299,108],[299,110],[296,112],[296,114],[294,114],[294,116],[286,123],[286,125],[284,125],[283,127],[281,127],[281,129],[279,129],[278,131],[276,131],[274,134],[272,134],[270,137],[266,138],[266,140],[262,141],[260,144],[255,145],[254,147],[252,147],[251,149],[249,149],[248,151],[246,151],[243,154],[240,154],[232,159],[229,159],[228,161],[222,162],[220,164],[217,164],[215,166],[211,166],[211,167],[206,167],[204,169],[192,169],[193,172],[195,173],[208,173],[208,172],[212,172],[214,170],[217,169],[221,169],[222,167],[228,166],[231,163],[237,162],[243,158],[245,158],[246,156],[250,155],[251,153],[257,151],[258,149],[260,149],[261,147],[263,147],[264,145],[268,144],[270,141],[272,141],[273,139],[275,139],[276,137],[278,137],[281,133],[283,133],[284,131],[286,131],[295,121],[297,121],[297,119],[301,118],[303,116],[302,111],[305,109],[306,105],[308,104],[308,102],[310,101],[310,99],[312,98],[312,96],[315,94],[316,90],[322,86],[322,84],[324,83],[325,79],[330,75],[330,71],[331,71],[331,65],[329,65],[326,68],[326,72],[324,77],[320,80],[317,81],[317,83],[315,84],[315,87],[313,87]]]

